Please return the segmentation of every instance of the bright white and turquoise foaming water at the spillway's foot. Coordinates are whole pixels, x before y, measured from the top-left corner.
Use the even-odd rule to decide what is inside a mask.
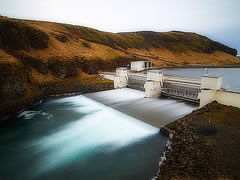
[[[37,168],[35,175],[71,163],[76,156],[84,161],[86,157],[97,153],[96,149],[101,146],[110,147],[104,148],[105,153],[115,151],[159,132],[158,128],[84,96],[55,100],[55,103],[68,102],[71,102],[73,111],[87,115],[79,117],[79,120],[68,123],[57,132],[29,145],[37,148],[38,153],[49,152],[42,157],[41,167]],[[29,114],[33,115],[34,112],[25,112],[19,117],[30,118]]]

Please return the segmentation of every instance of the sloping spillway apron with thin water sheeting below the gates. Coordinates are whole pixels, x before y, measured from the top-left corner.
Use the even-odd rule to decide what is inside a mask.
[[[90,93],[84,96],[157,128],[198,108],[181,100],[144,98],[144,92],[129,88]]]

